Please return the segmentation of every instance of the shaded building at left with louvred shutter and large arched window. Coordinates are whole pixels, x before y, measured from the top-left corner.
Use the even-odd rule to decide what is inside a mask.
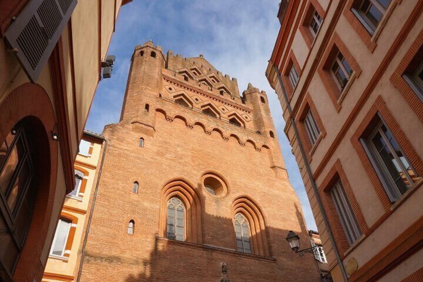
[[[0,1],[1,281],[41,280],[127,2]]]

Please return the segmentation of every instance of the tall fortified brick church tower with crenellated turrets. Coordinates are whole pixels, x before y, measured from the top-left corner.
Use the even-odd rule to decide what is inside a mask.
[[[103,135],[80,281],[319,280],[264,91],[149,41]]]

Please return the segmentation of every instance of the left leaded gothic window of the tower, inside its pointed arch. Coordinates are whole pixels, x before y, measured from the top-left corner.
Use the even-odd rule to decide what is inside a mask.
[[[177,197],[168,201],[167,238],[185,241],[185,205]]]

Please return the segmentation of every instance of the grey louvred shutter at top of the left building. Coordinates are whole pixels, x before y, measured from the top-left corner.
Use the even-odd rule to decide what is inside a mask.
[[[29,80],[35,83],[77,0],[31,0],[4,33]]]

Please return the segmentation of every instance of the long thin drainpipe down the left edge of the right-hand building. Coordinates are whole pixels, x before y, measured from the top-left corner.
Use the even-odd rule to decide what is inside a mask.
[[[283,98],[285,99],[286,108],[288,109],[288,113],[289,113],[289,120],[291,121],[292,127],[294,128],[294,134],[295,134],[295,137],[297,138],[298,147],[300,148],[301,156],[303,158],[304,165],[305,165],[308,177],[309,177],[310,182],[311,182],[311,186],[313,187],[314,195],[316,196],[316,199],[317,199],[317,204],[319,205],[320,212],[322,213],[323,222],[326,225],[326,230],[328,232],[329,239],[330,239],[332,247],[335,251],[336,261],[338,262],[339,268],[341,269],[341,273],[342,273],[342,277],[344,278],[344,281],[348,281],[347,273],[345,272],[345,268],[344,268],[344,265],[342,264],[342,260],[341,260],[341,257],[339,255],[339,252],[336,249],[335,241],[334,241],[333,235],[332,235],[332,230],[330,229],[330,226],[329,226],[329,221],[326,217],[325,210],[323,209],[322,200],[320,199],[320,195],[319,195],[318,190],[317,190],[316,182],[314,182],[314,179],[313,179],[313,173],[311,172],[310,164],[308,163],[307,156],[306,156],[305,151],[304,151],[304,147],[303,147],[303,145],[300,141],[300,134],[298,133],[297,124],[295,123],[295,120],[292,116],[291,104],[288,101],[288,95],[286,94],[285,87],[283,86],[283,82],[282,82],[282,78],[280,76],[279,69],[278,69],[278,67],[276,66],[275,63],[273,63],[273,67],[276,71],[278,81],[279,81],[279,84],[280,84],[280,88],[282,89]]]

